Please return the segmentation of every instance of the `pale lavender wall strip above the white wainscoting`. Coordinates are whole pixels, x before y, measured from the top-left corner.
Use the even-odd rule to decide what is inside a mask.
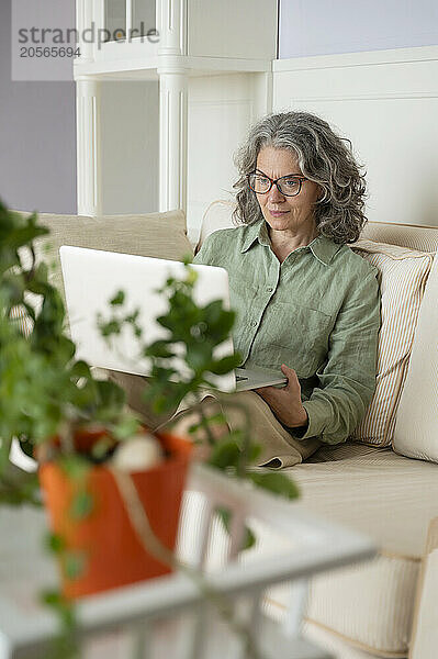
[[[280,58],[435,44],[437,0],[280,0]]]

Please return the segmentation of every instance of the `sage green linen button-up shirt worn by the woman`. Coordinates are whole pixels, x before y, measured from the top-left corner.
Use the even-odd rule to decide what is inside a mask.
[[[265,221],[211,234],[193,263],[228,272],[242,364],[296,371],[308,426],[304,434],[288,431],[300,439],[345,442],[375,389],[377,269],[324,236],[280,264]]]

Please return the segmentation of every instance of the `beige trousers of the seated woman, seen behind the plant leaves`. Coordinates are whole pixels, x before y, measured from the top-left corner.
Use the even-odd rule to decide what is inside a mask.
[[[181,411],[184,410],[183,406],[169,413],[157,415],[144,402],[142,392],[147,387],[147,378],[116,371],[109,372],[110,379],[125,390],[130,407],[141,415],[144,423],[150,429],[154,431],[172,418],[172,424],[176,424],[173,428],[179,426],[180,432],[186,431],[188,423],[182,420],[181,423],[178,421]],[[308,458],[321,446],[321,440],[316,437],[302,440],[292,437],[272,414],[269,405],[256,392],[243,391],[235,393],[233,394],[233,401],[245,405],[248,411],[249,418],[251,420],[252,440],[261,447],[258,460],[260,467],[269,467],[270,469],[293,467]],[[215,401],[214,395],[211,393],[205,394],[203,404],[209,414],[214,411],[222,411],[231,429],[237,429],[246,423],[242,410],[233,406],[226,406],[226,410],[223,410],[221,403]],[[216,405],[218,405],[220,410],[217,410]]]

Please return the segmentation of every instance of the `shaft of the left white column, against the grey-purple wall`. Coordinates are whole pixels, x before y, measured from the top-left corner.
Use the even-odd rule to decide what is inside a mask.
[[[100,82],[76,80],[78,214],[102,213]]]

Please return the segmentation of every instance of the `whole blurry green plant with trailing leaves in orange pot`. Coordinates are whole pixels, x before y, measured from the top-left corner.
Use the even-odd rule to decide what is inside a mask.
[[[48,546],[58,557],[64,580],[64,595],[50,593],[46,601],[71,625],[69,599],[181,567],[172,548],[190,444],[167,433],[142,436],[137,418],[125,411],[124,392],[93,377],[90,367],[75,358],[61,297],[48,282],[47,267],[35,258],[34,241],[47,233],[35,214],[23,217],[0,202],[0,501],[40,504],[40,482],[43,485],[54,530]],[[225,418],[205,415],[200,392],[202,386],[212,386],[211,373],[225,373],[238,365],[237,355],[214,357],[216,346],[228,336],[234,313],[220,301],[196,305],[195,271],[189,264],[187,268],[182,281],[169,278],[161,291],[169,301],[167,313],[158,319],[166,338],[144,343],[137,314],[123,313],[123,292],[109,301],[110,317],[100,319],[101,331],[111,339],[122,325],[132,325],[139,353],[153,361],[146,395],[157,412],[192,396],[199,421],[191,432],[206,434],[210,465],[295,498],[296,488],[284,476],[249,469],[258,455],[249,418],[242,429],[214,437],[214,424]],[[173,381],[177,345],[184,348],[188,371]],[[222,402],[225,407],[235,404],[228,396]],[[244,407],[242,413],[247,416]],[[37,458],[40,481],[10,463],[13,437]],[[143,451],[143,458],[149,451],[143,470],[138,453],[125,450],[130,445],[134,454]],[[227,511],[220,513],[227,526]],[[110,540],[113,545],[115,540],[114,551]],[[246,546],[252,541],[248,530]]]

